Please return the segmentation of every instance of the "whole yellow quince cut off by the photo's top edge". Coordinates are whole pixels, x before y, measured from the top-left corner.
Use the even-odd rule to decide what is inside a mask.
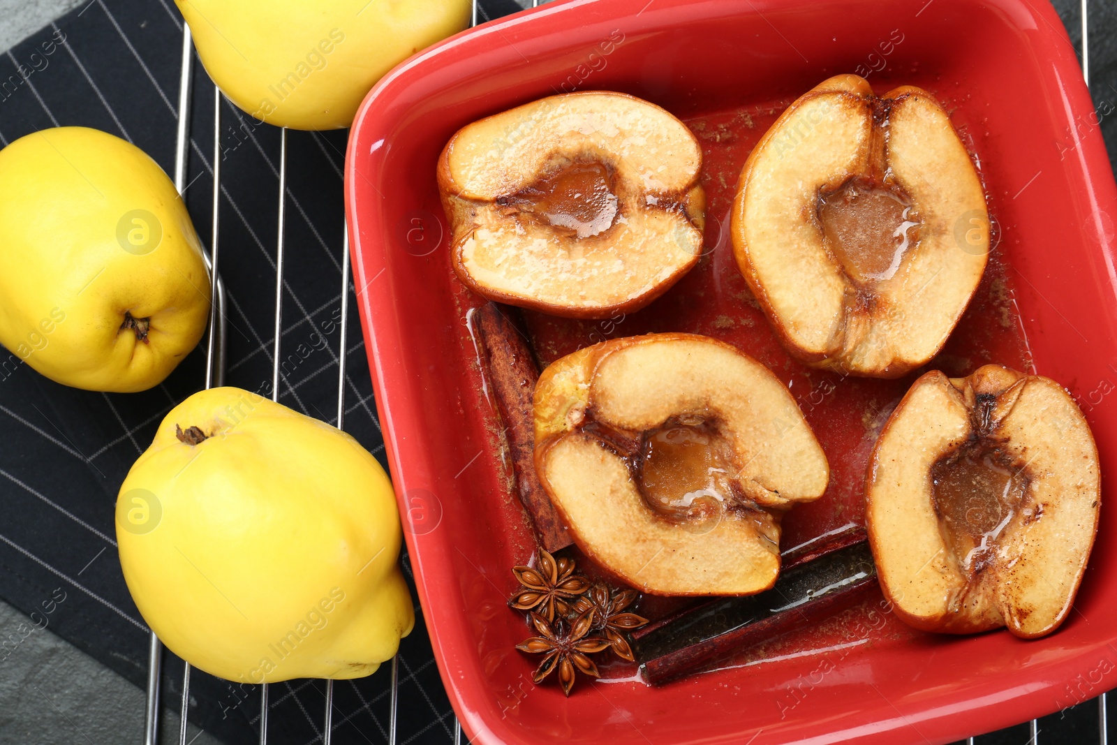
[[[353,123],[388,70],[469,25],[471,0],[174,0],[235,104],[268,124]]]

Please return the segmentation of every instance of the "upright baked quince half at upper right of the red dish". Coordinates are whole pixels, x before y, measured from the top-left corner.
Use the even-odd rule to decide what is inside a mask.
[[[981,181],[935,98],[856,75],[808,92],[741,173],[737,266],[787,350],[843,374],[929,361],[985,270]]]

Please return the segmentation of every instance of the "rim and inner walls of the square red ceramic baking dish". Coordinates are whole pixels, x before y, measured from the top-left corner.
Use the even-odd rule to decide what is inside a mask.
[[[1102,471],[1117,468],[1117,190],[1078,59],[1043,0],[571,0],[461,34],[369,94],[345,198],[408,548],[442,680],[472,742],[947,743],[1117,685],[1109,509],[1075,611],[1035,641],[890,623],[866,643],[806,640],[800,652],[662,688],[582,681],[569,699],[534,687],[532,660],[513,649],[528,634],[506,608],[508,570],[528,558],[532,536],[491,447],[464,290],[449,269],[435,181],[443,144],[469,122],[575,87],[630,93],[687,120],[765,104],[779,114],[848,71],[868,74],[878,92],[914,84],[946,104],[1000,223],[1023,363],[1068,386]],[[710,235],[720,230],[713,217],[717,261],[729,246]],[[843,478],[859,498],[859,475]]]

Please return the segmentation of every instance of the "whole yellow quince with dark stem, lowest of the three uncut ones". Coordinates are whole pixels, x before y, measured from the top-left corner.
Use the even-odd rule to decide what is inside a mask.
[[[121,486],[116,537],[144,620],[221,678],[359,678],[414,625],[380,464],[237,388],[171,410]]]

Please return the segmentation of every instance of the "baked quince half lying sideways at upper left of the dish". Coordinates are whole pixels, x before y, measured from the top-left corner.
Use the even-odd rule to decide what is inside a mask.
[[[682,122],[620,93],[475,122],[438,162],[454,269],[479,295],[552,315],[639,309],[701,255],[700,169]]]

